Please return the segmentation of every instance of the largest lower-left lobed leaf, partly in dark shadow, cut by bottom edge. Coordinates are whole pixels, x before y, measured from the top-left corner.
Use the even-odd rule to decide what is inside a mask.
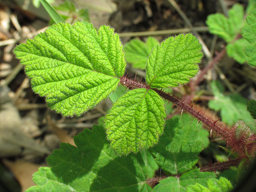
[[[141,154],[114,155],[102,126],[74,137],[77,147],[61,143],[47,158],[52,167],[34,174],[30,191],[151,191]]]

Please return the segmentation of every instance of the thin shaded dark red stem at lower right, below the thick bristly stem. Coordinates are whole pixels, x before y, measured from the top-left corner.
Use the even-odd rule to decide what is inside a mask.
[[[200,172],[216,172],[217,170],[223,170],[226,169],[227,167],[231,166],[238,166],[239,163],[241,162],[241,159],[234,159],[234,160],[229,160],[227,162],[221,162],[221,163],[215,163],[215,164],[210,164],[205,167],[200,168]]]

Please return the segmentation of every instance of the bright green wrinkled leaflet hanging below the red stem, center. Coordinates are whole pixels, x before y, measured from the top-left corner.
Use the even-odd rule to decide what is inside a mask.
[[[137,153],[158,142],[165,118],[164,101],[155,91],[131,90],[116,100],[106,115],[107,138],[116,154]]]

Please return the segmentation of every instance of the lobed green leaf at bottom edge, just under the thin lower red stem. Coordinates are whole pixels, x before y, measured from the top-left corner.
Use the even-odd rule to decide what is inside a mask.
[[[159,184],[154,187],[153,192],[186,192],[187,185],[200,183],[202,186],[207,186],[207,180],[215,177],[216,176],[210,172],[200,172],[200,169],[193,169],[184,173],[180,178],[168,177],[160,180]]]

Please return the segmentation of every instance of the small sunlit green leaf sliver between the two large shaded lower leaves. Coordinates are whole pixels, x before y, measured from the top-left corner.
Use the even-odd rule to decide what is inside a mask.
[[[147,169],[147,178],[153,178],[155,176],[155,172],[159,169],[159,167],[150,152],[144,149],[140,150],[140,152],[145,163],[145,167]]]

